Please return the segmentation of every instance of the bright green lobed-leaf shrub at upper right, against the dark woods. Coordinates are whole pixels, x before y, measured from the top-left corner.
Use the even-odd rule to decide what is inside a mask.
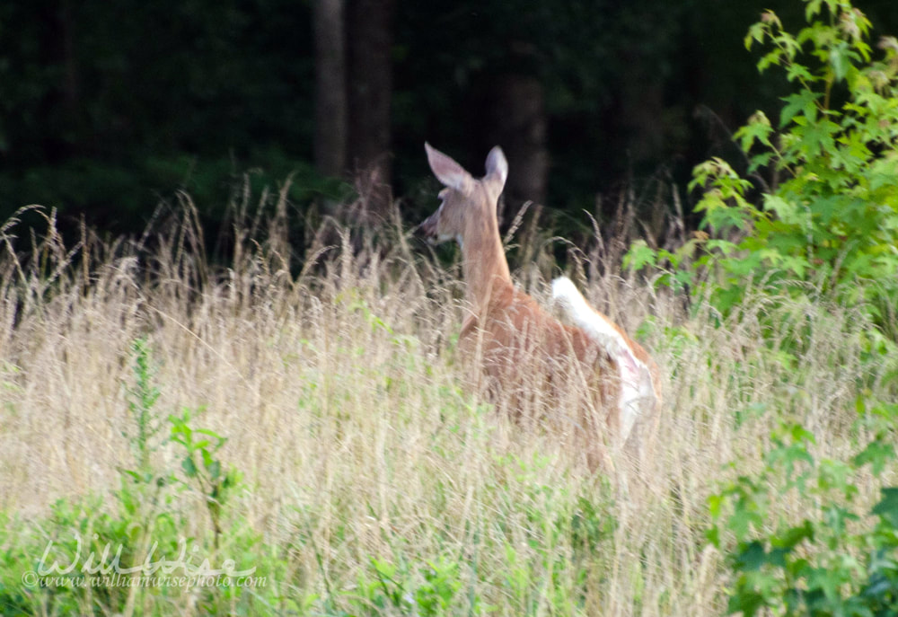
[[[728,163],[701,163],[690,190],[703,190],[696,209],[713,234],[700,234],[676,252],[639,244],[629,265],[666,261],[678,273],[662,282],[678,286],[698,280],[695,272],[682,274],[692,265],[708,275],[697,292],[725,312],[741,300],[749,278],[771,286],[806,282],[796,293],[864,305],[876,322],[894,329],[898,40],[881,40],[882,57],[875,59],[870,22],[850,2],[805,2],[808,25],[797,35],[769,11],[745,38],[748,48],[770,47],[759,70],[778,66],[795,87],[783,99],[777,128],[758,111],[735,133],[750,155],[749,173],[775,177],[762,207],[749,198],[753,182]]]

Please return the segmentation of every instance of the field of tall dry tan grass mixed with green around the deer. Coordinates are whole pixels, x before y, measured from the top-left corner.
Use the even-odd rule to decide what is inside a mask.
[[[706,539],[709,496],[762,471],[782,422],[814,433],[815,456],[850,457],[872,431],[858,396],[888,396],[894,366],[865,359],[859,313],[765,290],[721,318],[584,247],[585,295],[665,382],[638,460],[592,473],[559,430],[462,387],[457,269],[398,231],[331,231],[291,273],[276,211],[239,227],[227,269],[207,265],[189,209],[147,243],[4,227],[0,613],[718,615],[731,575]],[[545,301],[556,272],[537,263],[515,278]],[[169,419],[184,410],[193,473]],[[770,512],[816,507],[784,491]],[[191,564],[260,580],[23,578],[46,551],[80,555],[76,578],[89,549],[175,562],[179,542]]]

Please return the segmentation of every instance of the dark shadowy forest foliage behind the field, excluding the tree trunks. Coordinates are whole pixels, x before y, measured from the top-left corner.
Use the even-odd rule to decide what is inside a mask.
[[[894,21],[889,0],[868,4]],[[592,209],[659,165],[684,180],[706,154],[697,103],[735,124],[778,91],[737,44],[764,6],[397,3],[394,194],[426,175],[425,140],[478,159],[493,145],[490,84],[509,72],[545,92],[551,207]],[[40,203],[64,222],[139,233],[160,199],[187,190],[220,225],[247,171],[269,184],[297,172],[302,209],[333,197],[312,172],[311,21],[308,3],[286,0],[4,3],[0,219]]]

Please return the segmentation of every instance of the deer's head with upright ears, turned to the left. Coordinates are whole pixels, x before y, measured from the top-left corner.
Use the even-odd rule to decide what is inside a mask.
[[[445,189],[439,194],[443,203],[418,226],[418,231],[428,242],[455,240],[462,246],[471,234],[489,233],[497,226],[496,205],[508,176],[502,148],[496,146],[489,151],[487,175],[480,180],[429,144],[424,148],[430,169]]]

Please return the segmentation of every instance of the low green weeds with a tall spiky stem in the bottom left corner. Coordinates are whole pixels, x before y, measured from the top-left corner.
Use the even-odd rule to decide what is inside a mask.
[[[143,613],[138,604],[162,610],[164,598],[188,593],[195,595],[204,613],[218,613],[253,596],[247,594],[241,602],[241,586],[233,580],[207,584],[210,576],[257,575],[258,569],[257,576],[263,578],[262,569],[277,567],[260,559],[258,533],[242,524],[223,531],[224,508],[241,481],[238,472],[216,457],[226,439],[192,427],[189,410],[170,416],[170,435],[157,438],[163,434],[156,406],[161,392],[154,383],[149,342],[137,339],[132,354],[133,383],[126,387],[130,427],[123,436],[131,445],[134,468],[119,469],[120,486],[111,493],[111,506],[89,495],[57,500],[49,516],[36,524],[2,516],[4,528],[12,530],[9,537],[17,538],[0,552],[3,614]],[[155,452],[172,446],[184,451],[183,476],[154,461]],[[207,534],[189,533],[191,517],[182,498],[186,491],[198,492],[206,503],[211,542]],[[197,555],[207,562],[198,563]],[[224,568],[216,568],[219,562]],[[204,574],[209,571],[211,575]],[[180,578],[193,583],[181,584]],[[141,599],[147,597],[154,602]]]

